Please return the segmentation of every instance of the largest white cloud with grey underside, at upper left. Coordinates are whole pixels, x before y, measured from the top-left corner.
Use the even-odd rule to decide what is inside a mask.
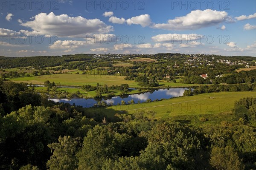
[[[58,35],[59,37],[86,37],[91,33],[108,33],[113,31],[99,19],[86,19],[81,16],[69,17],[67,14],[55,15],[53,12],[40,13],[32,17],[32,21],[20,25],[29,27],[42,35]]]

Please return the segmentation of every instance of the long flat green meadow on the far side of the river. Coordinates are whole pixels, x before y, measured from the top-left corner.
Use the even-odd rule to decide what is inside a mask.
[[[75,71],[77,72],[77,71]],[[137,82],[133,80],[125,80],[123,76],[108,76],[108,75],[88,75],[88,74],[50,74],[50,75],[43,75],[43,76],[31,76],[31,77],[17,77],[9,79],[14,82],[27,82],[32,83],[34,85],[42,85],[46,80],[50,82],[61,83],[61,85],[93,85],[95,86],[97,82],[101,85],[121,85],[121,84],[128,84],[129,87],[137,88]],[[192,87],[195,86],[193,84],[183,84],[180,82],[173,83],[173,82],[166,82],[162,81],[159,82],[161,86],[170,86],[170,87]]]

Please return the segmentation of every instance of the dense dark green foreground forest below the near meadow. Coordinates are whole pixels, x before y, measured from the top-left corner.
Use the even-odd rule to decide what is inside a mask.
[[[1,81],[0,113],[3,170],[256,168],[256,98],[236,101],[231,121],[217,124],[157,120],[154,111],[109,119]]]

